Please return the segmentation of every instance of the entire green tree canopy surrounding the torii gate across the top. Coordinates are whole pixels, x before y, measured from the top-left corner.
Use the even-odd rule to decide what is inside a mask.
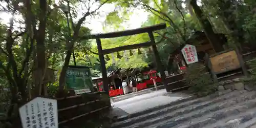
[[[195,31],[203,31],[217,52],[223,50],[220,48],[223,40],[215,33],[225,34],[228,39],[225,45],[230,48],[238,47],[242,51],[255,48],[256,2],[253,0],[5,0],[0,5],[0,12],[10,15],[8,23],[0,22],[0,91],[2,87],[10,89],[5,100],[6,118],[13,116],[15,105],[48,95],[49,84],[44,83],[47,69],[54,69],[57,80],[52,85],[59,95],[65,93],[69,65],[76,62],[79,66],[90,66],[93,75],[100,74],[97,45],[89,39],[92,32],[89,28],[94,26],[85,23],[104,15],[105,10],[100,10],[103,6],[115,7],[108,10],[102,21],[103,32],[129,29],[127,23],[138,10],[147,16],[141,27],[166,23],[166,29],[154,32],[166,70],[172,68],[168,65],[169,55]],[[149,39],[144,33],[101,41],[103,49],[108,49]],[[138,54],[138,49],[131,51],[133,55],[130,51],[119,52],[121,59],[117,53],[109,54],[106,67],[143,68],[154,62],[150,49],[139,50],[142,54]]]

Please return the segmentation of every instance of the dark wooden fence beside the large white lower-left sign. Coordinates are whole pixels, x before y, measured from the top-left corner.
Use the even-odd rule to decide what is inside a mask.
[[[83,125],[111,107],[109,96],[104,92],[58,98],[57,105],[59,127]]]

